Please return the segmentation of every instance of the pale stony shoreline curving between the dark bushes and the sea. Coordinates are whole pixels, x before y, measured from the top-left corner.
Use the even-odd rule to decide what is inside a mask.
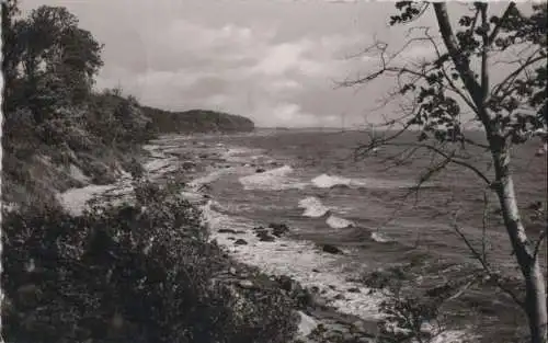
[[[199,171],[191,172],[193,182],[185,187],[184,196],[204,210],[212,240],[215,240],[238,263],[256,267],[275,278],[289,278],[292,283],[296,283],[306,291],[312,289],[316,308],[295,309],[301,318],[298,339],[307,340],[306,336],[320,324],[328,329],[326,332],[328,335],[349,335],[356,327],[361,327],[359,332],[364,333],[364,336],[373,338],[375,335],[373,332],[377,331],[376,323],[381,318],[379,304],[386,298],[385,295],[379,290],[364,287],[363,284],[346,281],[342,273],[329,271],[330,264],[338,256],[318,251],[311,242],[295,241],[284,237],[276,238],[274,242],[261,242],[254,236],[252,224],[235,222],[233,218],[216,211],[215,201],[208,198],[207,194],[199,191],[199,187],[208,182],[212,173],[229,172],[226,164],[230,162],[222,159],[221,153],[228,148],[219,144],[214,147],[212,147],[214,144],[190,144],[189,141],[194,138],[196,137],[169,135],[145,145],[142,148],[149,155],[142,163],[147,176],[152,181],[158,181],[165,178],[169,172],[180,170],[185,162],[194,163],[195,169]],[[183,147],[184,144],[176,141],[186,141],[190,147]],[[212,156],[216,153],[220,156],[213,159],[194,156],[194,159],[185,160],[184,153],[178,152],[184,148],[195,150],[198,147],[207,149],[208,152],[217,151]],[[254,169],[255,167],[252,168]],[[132,179],[124,175],[112,185],[88,185],[83,188],[69,190],[61,194],[61,198],[64,204],[72,205],[83,204],[84,199],[104,198],[109,196],[109,193],[123,198],[130,191],[130,182]],[[219,222],[229,227],[219,227]],[[224,228],[232,231],[219,232],[219,229]],[[235,235],[237,230],[239,233]],[[247,243],[235,244],[238,239]],[[464,331],[448,331],[445,335],[434,339],[432,343],[457,343],[463,341],[463,335],[465,335]]]

